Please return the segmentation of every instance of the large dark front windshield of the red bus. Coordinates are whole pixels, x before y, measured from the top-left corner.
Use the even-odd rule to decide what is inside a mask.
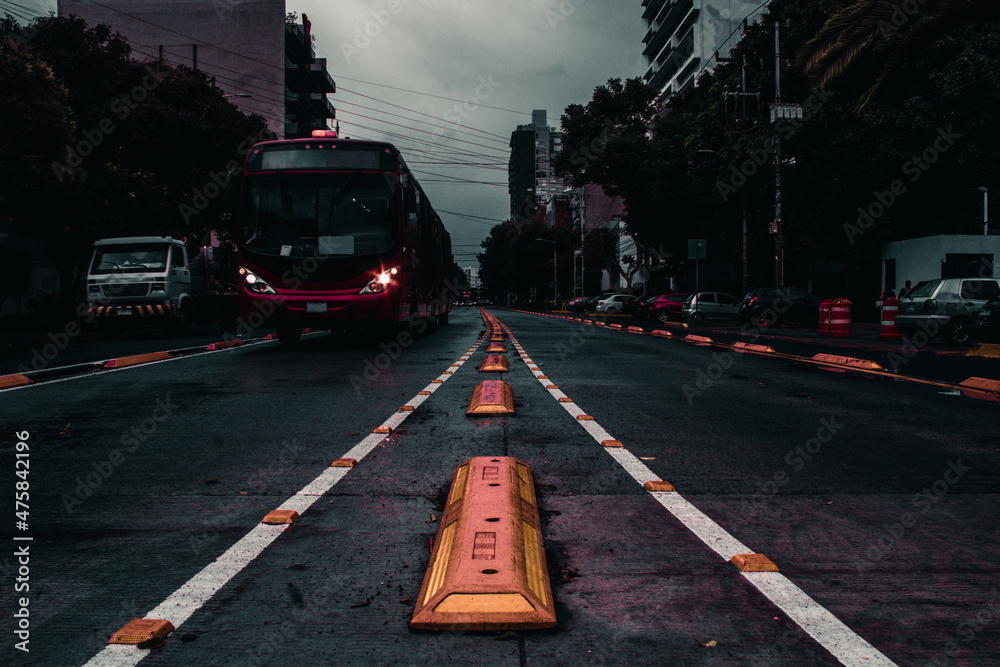
[[[243,202],[243,247],[282,257],[358,257],[393,249],[396,195],[390,174],[251,175]]]

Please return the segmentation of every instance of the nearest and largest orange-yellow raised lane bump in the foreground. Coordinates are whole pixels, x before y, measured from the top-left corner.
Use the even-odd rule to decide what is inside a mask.
[[[505,456],[469,459],[447,502],[410,627],[555,627],[531,468]]]

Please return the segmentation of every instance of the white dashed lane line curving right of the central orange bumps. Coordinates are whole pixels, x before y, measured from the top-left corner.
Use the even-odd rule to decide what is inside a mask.
[[[514,335],[506,325],[504,325],[504,329],[507,331],[507,335],[510,336],[511,341],[516,341]],[[521,360],[531,370],[531,366],[536,365],[535,362],[524,351],[523,347],[516,342],[515,344],[517,345]],[[541,374],[536,371],[531,372],[535,374],[536,379]],[[541,383],[542,387],[547,387],[549,384],[558,384],[552,378],[538,380],[538,382]],[[559,398],[565,396],[558,389],[546,389],[546,391],[557,401]],[[559,405],[574,419],[579,414],[586,414],[575,402],[561,402]],[[605,440],[615,439],[596,421],[576,421],[598,444]],[[624,447],[604,447],[603,449],[640,485],[649,481],[661,481],[646,464]],[[749,547],[726,532],[722,526],[685,500],[676,491],[649,491],[649,494],[723,560],[729,561],[736,554],[753,553]],[[806,634],[815,639],[820,646],[832,653],[842,664],[849,665],[850,667],[860,665],[889,667],[895,665],[894,662],[889,660],[878,649],[847,627],[830,611],[806,595],[802,589],[780,572],[743,572],[741,574],[788,618],[802,628]]]

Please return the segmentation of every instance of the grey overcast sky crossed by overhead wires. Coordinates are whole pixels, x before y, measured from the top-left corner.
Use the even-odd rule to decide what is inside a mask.
[[[546,109],[549,125],[558,128],[567,105],[586,104],[609,78],[645,71],[640,0],[285,5],[312,22],[316,55],[327,59],[337,83],[330,99],[342,135],[385,139],[400,148],[441,211],[461,266],[475,265],[479,243],[496,223],[445,211],[496,221],[509,217],[510,133],[531,122],[533,109]],[[28,8],[55,11],[56,3],[16,0],[14,6],[23,15]]]

